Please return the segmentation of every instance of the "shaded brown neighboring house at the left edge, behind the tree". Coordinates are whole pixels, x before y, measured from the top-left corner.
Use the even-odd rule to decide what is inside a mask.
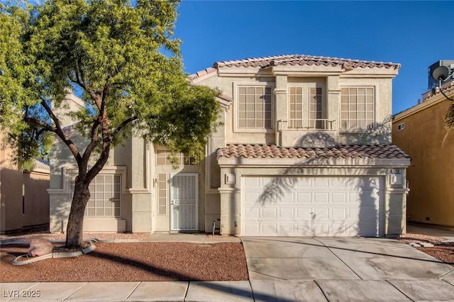
[[[11,149],[0,148],[0,234],[48,230],[48,162],[35,160],[32,171],[22,172],[10,156]]]

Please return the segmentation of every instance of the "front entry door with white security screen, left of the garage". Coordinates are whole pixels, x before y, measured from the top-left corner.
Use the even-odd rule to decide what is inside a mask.
[[[170,230],[198,230],[198,174],[171,175]]]

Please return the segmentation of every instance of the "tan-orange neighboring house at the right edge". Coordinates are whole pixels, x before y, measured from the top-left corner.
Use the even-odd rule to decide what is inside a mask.
[[[454,83],[443,93],[454,99]],[[422,102],[394,116],[392,140],[411,155],[407,172],[409,221],[454,227],[454,133],[443,127],[451,104],[440,89],[422,96]]]

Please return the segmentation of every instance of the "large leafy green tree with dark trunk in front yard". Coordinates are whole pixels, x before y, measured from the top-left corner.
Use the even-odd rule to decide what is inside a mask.
[[[77,163],[66,247],[82,245],[89,184],[114,145],[142,135],[200,158],[216,127],[218,91],[192,86],[172,38],[177,1],[45,0],[0,4],[0,125],[26,160],[49,135]],[[62,130],[56,109],[68,91],[85,107],[71,112],[86,145]],[[61,116],[60,116],[61,118]],[[89,168],[89,162],[94,162]]]

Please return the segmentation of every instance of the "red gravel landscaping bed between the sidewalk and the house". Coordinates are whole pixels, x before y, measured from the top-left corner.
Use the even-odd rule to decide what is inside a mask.
[[[14,266],[28,245],[1,245],[0,282],[35,281],[233,281],[248,280],[243,245],[187,242],[95,242],[73,258]]]

